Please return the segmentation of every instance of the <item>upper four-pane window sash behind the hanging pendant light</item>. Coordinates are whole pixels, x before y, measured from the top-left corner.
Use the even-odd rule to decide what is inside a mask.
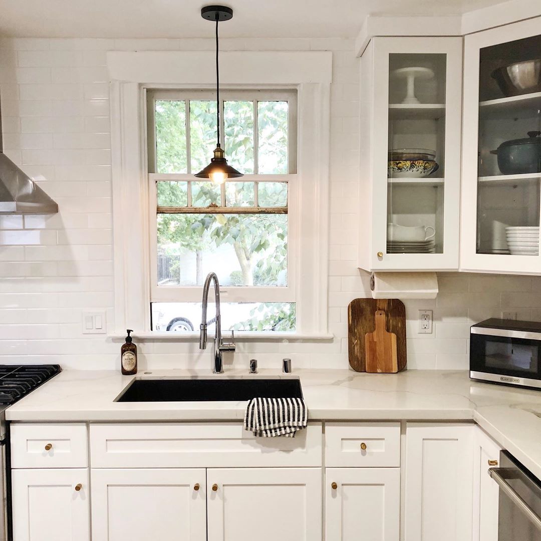
[[[221,94],[226,97],[220,103],[220,130],[229,164],[245,175],[294,173],[294,93],[246,90]],[[156,90],[149,91],[149,97],[148,113],[153,120],[149,123],[149,172],[197,173],[207,165],[216,145],[213,93]]]

